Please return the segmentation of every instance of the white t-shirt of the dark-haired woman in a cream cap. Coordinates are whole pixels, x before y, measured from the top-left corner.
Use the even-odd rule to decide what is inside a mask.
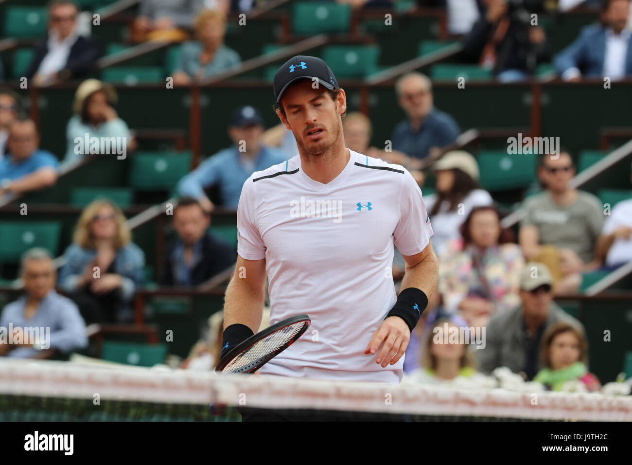
[[[437,194],[431,194],[426,197],[426,208],[428,212],[432,211],[432,208],[437,201]],[[432,223],[434,224],[434,236],[432,237],[432,248],[437,256],[442,255],[446,249],[447,244],[451,240],[459,239],[461,233],[459,232],[459,226],[463,224],[465,218],[472,211],[472,208],[479,206],[488,206],[494,202],[492,196],[489,195],[487,190],[474,189],[468,194],[461,202],[463,209],[459,209],[458,206],[454,211],[447,211],[449,204],[444,201],[439,208],[439,213],[432,215]],[[461,214],[459,214],[461,213]]]

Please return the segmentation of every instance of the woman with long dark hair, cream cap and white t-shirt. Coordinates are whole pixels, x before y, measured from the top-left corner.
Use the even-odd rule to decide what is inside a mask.
[[[494,201],[489,192],[478,189],[478,164],[465,151],[451,151],[434,164],[437,193],[425,197],[432,219],[432,247],[441,256],[451,240],[459,239],[459,226],[475,206],[488,206]]]

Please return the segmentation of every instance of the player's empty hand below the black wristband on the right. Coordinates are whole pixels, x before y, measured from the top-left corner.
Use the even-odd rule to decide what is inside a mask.
[[[410,330],[406,322],[399,316],[389,316],[375,330],[367,348],[364,349],[364,353],[372,355],[377,353],[375,363],[379,363],[382,365],[382,368],[386,368],[389,363],[391,365],[398,363],[401,356],[406,352],[408,342],[410,342]],[[382,349],[377,352],[380,345]]]

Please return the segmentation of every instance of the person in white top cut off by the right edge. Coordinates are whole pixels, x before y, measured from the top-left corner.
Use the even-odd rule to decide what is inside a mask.
[[[607,270],[616,270],[632,261],[632,199],[621,201],[612,208],[604,221],[595,254]]]

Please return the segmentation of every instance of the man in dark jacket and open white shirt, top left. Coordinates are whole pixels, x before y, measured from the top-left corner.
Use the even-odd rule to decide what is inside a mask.
[[[76,31],[78,9],[70,0],[54,0],[49,8],[49,36],[35,48],[26,77],[35,85],[48,85],[82,77],[101,54],[92,37]]]

